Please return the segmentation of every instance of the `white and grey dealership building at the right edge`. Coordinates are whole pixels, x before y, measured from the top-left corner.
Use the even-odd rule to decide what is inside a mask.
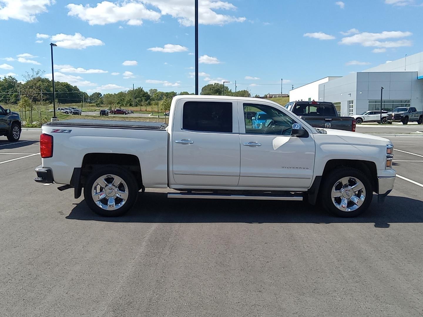
[[[340,115],[416,107],[423,111],[423,52],[344,77],[325,77],[289,92],[289,101],[330,101]]]

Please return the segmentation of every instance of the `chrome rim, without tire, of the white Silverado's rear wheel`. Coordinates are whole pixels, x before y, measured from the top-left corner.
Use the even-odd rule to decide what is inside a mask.
[[[128,200],[128,186],[119,176],[103,175],[94,182],[91,196],[100,208],[117,210]]]

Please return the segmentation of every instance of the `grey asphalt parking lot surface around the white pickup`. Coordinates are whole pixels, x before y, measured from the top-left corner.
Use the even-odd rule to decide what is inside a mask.
[[[0,139],[2,317],[423,315],[423,136],[385,135],[401,178],[354,219],[166,191],[101,218],[33,181],[38,137]]]

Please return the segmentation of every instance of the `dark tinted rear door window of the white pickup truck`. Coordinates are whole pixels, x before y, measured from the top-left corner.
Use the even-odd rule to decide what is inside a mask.
[[[187,101],[183,108],[182,129],[232,133],[232,103]]]

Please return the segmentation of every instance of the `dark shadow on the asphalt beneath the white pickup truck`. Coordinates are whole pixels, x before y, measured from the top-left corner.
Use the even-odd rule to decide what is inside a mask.
[[[331,216],[320,206],[305,202],[168,199],[164,193],[140,193],[135,206],[124,216],[98,216],[82,201],[75,205],[66,219],[140,223],[374,223],[376,228],[389,228],[390,223],[423,222],[423,202],[388,196],[385,203],[378,204],[374,196],[363,216],[339,218]]]

